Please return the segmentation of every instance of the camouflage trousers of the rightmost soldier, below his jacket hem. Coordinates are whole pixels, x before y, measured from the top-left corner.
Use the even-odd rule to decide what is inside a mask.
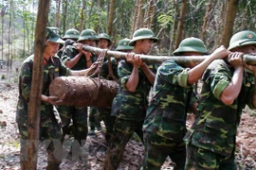
[[[186,170],[236,170],[234,151],[226,157],[208,149],[187,145]]]

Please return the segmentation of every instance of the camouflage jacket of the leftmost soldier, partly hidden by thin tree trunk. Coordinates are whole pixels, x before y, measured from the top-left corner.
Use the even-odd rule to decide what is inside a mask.
[[[29,102],[29,93],[32,81],[32,69],[33,69],[34,55],[29,56],[22,64],[19,75],[19,100],[17,105],[17,123],[27,122],[27,106]],[[66,68],[63,62],[58,57],[52,57],[48,60],[44,60],[44,80],[42,93],[49,95],[48,87],[50,82],[57,76],[68,76],[70,70]],[[51,113],[53,113],[53,106],[43,102],[41,103],[41,122],[46,120]]]

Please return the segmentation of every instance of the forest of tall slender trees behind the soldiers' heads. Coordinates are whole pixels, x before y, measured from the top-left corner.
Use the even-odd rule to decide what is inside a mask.
[[[1,0],[0,62],[11,69],[13,60],[33,53],[37,0]],[[255,31],[256,1],[252,0],[52,0],[47,26],[57,26],[62,36],[69,28],[105,32],[114,49],[132,38],[140,27],[158,37],[154,55],[171,56],[187,37],[202,39],[209,51],[229,46],[234,32]]]

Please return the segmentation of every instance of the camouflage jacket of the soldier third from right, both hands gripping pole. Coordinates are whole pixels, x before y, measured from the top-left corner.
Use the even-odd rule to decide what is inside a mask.
[[[156,65],[148,65],[148,67],[156,72]],[[124,120],[141,121],[145,118],[145,112],[148,106],[148,95],[151,89],[151,83],[138,68],[139,82],[135,93],[129,92],[125,84],[133,71],[133,65],[124,59],[119,60],[119,91],[113,100],[112,115],[119,116]]]

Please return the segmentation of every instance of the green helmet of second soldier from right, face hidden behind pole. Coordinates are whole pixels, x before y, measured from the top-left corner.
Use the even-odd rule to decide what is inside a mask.
[[[174,51],[174,55],[179,55],[183,52],[197,52],[206,54],[208,53],[206,46],[203,41],[198,38],[187,38],[181,41],[178,45],[178,48]]]

